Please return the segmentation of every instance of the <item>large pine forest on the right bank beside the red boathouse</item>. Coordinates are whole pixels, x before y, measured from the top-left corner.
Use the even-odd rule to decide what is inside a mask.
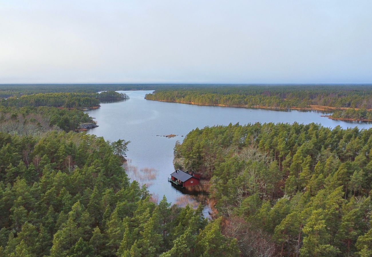
[[[243,256],[372,256],[372,129],[196,128],[174,154],[176,167],[210,179]]]

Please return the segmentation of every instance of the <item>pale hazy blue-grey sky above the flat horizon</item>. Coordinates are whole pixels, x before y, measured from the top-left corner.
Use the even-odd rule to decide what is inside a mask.
[[[371,0],[0,0],[0,83],[372,83]]]

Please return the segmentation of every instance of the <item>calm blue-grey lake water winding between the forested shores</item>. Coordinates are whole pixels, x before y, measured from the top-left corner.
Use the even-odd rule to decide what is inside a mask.
[[[89,134],[103,136],[106,140],[130,140],[128,145],[129,178],[140,184],[147,184],[150,193],[161,199],[165,195],[169,202],[184,206],[187,202],[205,202],[202,192],[182,192],[168,182],[173,168],[173,147],[177,140],[182,142],[186,134],[196,127],[268,122],[321,123],[325,127],[340,125],[343,128],[370,128],[372,124],[348,123],[320,117],[316,111],[273,111],[263,109],[198,106],[145,100],[145,94],[152,91],[118,91],[130,99],[116,103],[102,103],[101,108],[88,111],[99,127]],[[176,134],[173,138],[163,135]],[[159,135],[159,136],[157,136]],[[206,206],[205,215],[209,208]]]

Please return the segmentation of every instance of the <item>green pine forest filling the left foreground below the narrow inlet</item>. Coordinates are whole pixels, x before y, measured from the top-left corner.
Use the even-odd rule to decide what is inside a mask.
[[[130,183],[117,151],[125,143],[0,133],[0,256],[238,256],[222,219]]]

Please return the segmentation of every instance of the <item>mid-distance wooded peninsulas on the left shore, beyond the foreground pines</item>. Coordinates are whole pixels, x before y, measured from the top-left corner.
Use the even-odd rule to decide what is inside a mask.
[[[76,130],[81,123],[93,123],[85,108],[97,107],[102,100],[126,100],[115,91],[98,93],[38,93],[3,98],[0,102],[0,131],[37,135],[49,130]]]

